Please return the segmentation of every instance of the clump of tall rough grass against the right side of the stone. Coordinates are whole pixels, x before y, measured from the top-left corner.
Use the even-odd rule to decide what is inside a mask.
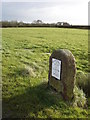
[[[87,108],[90,97],[90,74],[78,71],[74,88],[74,106]]]

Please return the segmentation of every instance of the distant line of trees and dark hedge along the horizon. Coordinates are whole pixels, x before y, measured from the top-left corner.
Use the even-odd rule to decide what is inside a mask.
[[[44,23],[42,20],[34,20],[32,23],[25,23],[23,21],[0,21],[0,27],[58,27],[58,28],[79,28],[79,29],[90,29],[90,26],[81,25],[70,25],[67,22],[57,23]]]

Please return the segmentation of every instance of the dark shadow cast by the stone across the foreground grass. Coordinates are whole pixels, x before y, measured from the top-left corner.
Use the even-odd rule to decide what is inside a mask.
[[[48,87],[47,83],[26,88],[23,94],[3,99],[3,118],[38,117],[41,111],[60,102],[60,95]]]

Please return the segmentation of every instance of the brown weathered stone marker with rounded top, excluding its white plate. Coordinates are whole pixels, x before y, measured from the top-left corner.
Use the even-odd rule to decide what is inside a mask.
[[[60,80],[52,76],[53,58],[61,61]],[[48,83],[56,91],[60,92],[65,100],[71,100],[74,96],[75,74],[75,58],[72,53],[65,49],[55,50],[49,59]]]

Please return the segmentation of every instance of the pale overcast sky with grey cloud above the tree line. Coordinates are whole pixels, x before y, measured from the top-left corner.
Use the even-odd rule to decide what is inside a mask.
[[[88,0],[2,0],[2,20],[88,25]]]

